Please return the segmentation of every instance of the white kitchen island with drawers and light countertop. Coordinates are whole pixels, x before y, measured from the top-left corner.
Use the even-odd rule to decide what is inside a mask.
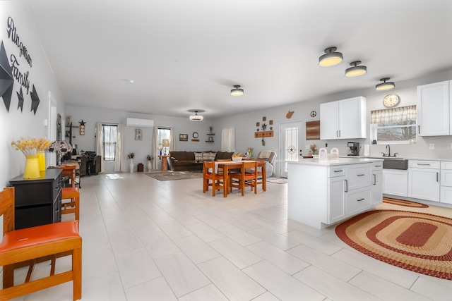
[[[287,216],[325,228],[383,202],[382,159],[287,161]]]

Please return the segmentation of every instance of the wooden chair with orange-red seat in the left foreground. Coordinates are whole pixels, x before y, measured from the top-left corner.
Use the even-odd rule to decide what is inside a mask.
[[[73,281],[73,300],[82,297],[82,238],[78,221],[49,223],[14,230],[14,188],[0,192],[0,216],[3,216],[4,236],[0,242],[0,266],[3,266],[3,290],[0,300],[10,300],[44,288]],[[72,256],[72,268],[55,274],[57,258]],[[31,280],[35,264],[51,263],[50,275]],[[29,266],[25,283],[14,281],[14,270]]]

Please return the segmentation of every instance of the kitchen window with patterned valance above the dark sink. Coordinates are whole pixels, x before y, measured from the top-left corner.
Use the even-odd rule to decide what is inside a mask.
[[[377,144],[416,142],[416,106],[371,111],[371,140]]]

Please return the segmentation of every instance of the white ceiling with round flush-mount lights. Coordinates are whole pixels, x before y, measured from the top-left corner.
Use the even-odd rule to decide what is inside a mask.
[[[450,0],[25,2],[73,106],[215,119],[452,69]]]

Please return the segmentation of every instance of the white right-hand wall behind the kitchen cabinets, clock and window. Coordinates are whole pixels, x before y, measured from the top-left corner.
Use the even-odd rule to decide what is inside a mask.
[[[364,75],[366,76],[366,75]],[[305,123],[307,121],[318,121],[320,119],[320,104],[324,102],[333,102],[340,99],[346,99],[350,97],[364,96],[367,98],[367,137],[370,133],[370,112],[378,109],[384,109],[383,97],[389,93],[398,94],[400,97],[399,106],[408,106],[417,104],[417,86],[425,85],[432,82],[439,82],[442,80],[451,80],[452,70],[444,71],[441,73],[435,73],[433,75],[427,75],[415,80],[408,80],[405,82],[397,82],[394,90],[388,92],[377,92],[374,87],[369,87],[365,90],[355,90],[350,92],[344,92],[340,94],[329,95],[328,97],[320,97],[319,99],[311,99],[306,102],[297,102],[294,104],[275,106],[272,109],[256,110],[251,113],[242,113],[227,118],[221,118],[215,121],[215,128],[218,128],[218,132],[221,128],[235,127],[237,133],[236,150],[244,151],[247,147],[254,147],[254,154],[257,154],[261,150],[273,150],[278,154],[280,158],[280,125],[282,123],[291,123],[301,121]],[[287,119],[285,116],[288,111],[295,111],[292,118]],[[317,116],[311,118],[309,113],[316,111]],[[266,145],[261,145],[261,138],[254,138],[254,132],[256,131],[256,122],[262,123],[262,117],[266,116],[266,124],[269,120],[273,120],[274,137],[265,138]],[[339,154],[347,154],[347,142],[359,142],[360,145],[369,143],[369,139],[357,139],[357,140],[311,140],[307,141],[308,145],[315,144],[317,147],[325,147],[328,143],[328,149],[337,147]],[[429,144],[434,143],[435,149],[429,149]],[[420,158],[452,158],[452,136],[444,137],[417,137],[417,143],[412,145],[392,145],[391,154],[398,152],[398,156],[420,157]],[[304,149],[303,154],[307,154],[308,149]],[[361,153],[362,154],[362,150]],[[381,156],[381,152],[386,152],[384,145],[371,145],[370,155]],[[280,166],[275,166],[276,174],[279,175]]]

